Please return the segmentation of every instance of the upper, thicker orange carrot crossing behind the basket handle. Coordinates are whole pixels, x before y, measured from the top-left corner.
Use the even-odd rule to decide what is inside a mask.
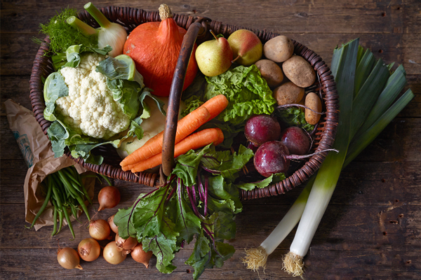
[[[189,134],[192,134],[203,123],[206,123],[210,118],[210,113],[206,107],[199,107],[190,112],[187,116],[178,121],[177,132],[175,134],[175,144],[185,139]],[[153,141],[152,141],[153,139]],[[120,162],[121,167],[126,165],[134,165],[137,162],[146,160],[162,150],[163,132],[156,134],[152,139],[149,139],[142,147],[128,155]]]

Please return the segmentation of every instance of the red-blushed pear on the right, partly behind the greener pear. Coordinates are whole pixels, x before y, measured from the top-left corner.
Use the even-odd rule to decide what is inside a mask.
[[[250,30],[239,29],[234,31],[233,34],[229,35],[228,43],[234,55],[233,62],[250,66],[262,57],[262,41]]]

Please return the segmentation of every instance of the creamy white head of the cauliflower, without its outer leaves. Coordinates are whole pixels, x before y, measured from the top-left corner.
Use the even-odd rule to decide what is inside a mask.
[[[108,139],[128,128],[129,117],[119,102],[112,98],[107,77],[95,71],[105,59],[94,52],[81,55],[79,66],[60,70],[69,87],[69,95],[60,97],[55,104],[64,121],[76,132],[89,137]]]

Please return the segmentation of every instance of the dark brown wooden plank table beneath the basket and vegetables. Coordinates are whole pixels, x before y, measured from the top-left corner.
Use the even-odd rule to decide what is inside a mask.
[[[39,23],[55,10],[81,10],[84,1],[1,1],[1,100],[13,99],[31,108],[29,76],[39,46],[32,42]],[[173,13],[203,15],[224,23],[267,29],[307,45],[330,65],[336,45],[361,38],[386,63],[403,64],[415,99],[363,151],[342,175],[312,246],[305,258],[305,279],[421,279],[421,2],[380,1],[166,1]],[[160,2],[97,1],[102,6],[132,6],[157,10]],[[51,227],[38,232],[24,227],[23,182],[27,167],[1,107],[1,279],[192,279],[192,267],[184,264],[192,244],[176,254],[172,274],[149,269],[127,258],[109,265],[100,257],[82,262],[83,270],[58,265],[60,247],[77,247],[88,237],[85,226],[68,228],[50,237]],[[121,190],[119,207],[129,207],[146,186],[114,181]],[[95,186],[95,197],[101,186]],[[281,269],[292,232],[269,256],[265,273],[251,272],[241,258],[245,248],[258,246],[279,223],[300,193],[244,202],[236,217],[234,256],[220,269],[206,270],[201,279],[293,279]],[[91,213],[98,209],[95,199]],[[108,218],[116,209],[101,211]],[[82,219],[83,222],[86,222]]]

